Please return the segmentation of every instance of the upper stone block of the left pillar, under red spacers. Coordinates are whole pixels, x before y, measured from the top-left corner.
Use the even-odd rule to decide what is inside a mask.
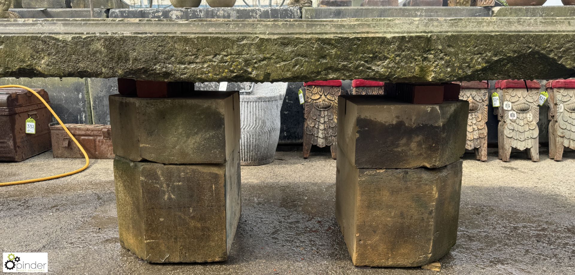
[[[239,92],[180,98],[110,95],[114,154],[165,164],[224,163],[239,146]]]

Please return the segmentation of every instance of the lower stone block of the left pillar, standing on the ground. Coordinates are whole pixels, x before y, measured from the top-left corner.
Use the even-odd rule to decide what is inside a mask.
[[[147,262],[228,257],[241,212],[239,150],[225,164],[114,160],[120,244]]]

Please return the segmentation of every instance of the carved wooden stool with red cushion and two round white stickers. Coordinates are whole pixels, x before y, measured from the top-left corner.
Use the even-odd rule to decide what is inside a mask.
[[[526,150],[527,158],[539,161],[539,89],[537,81],[497,80],[499,94],[499,158],[509,161],[511,148]]]

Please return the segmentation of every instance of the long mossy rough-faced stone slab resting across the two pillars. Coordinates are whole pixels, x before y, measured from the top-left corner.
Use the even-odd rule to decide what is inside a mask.
[[[6,20],[0,24],[0,77],[405,83],[568,78],[575,72],[574,30],[573,17]]]

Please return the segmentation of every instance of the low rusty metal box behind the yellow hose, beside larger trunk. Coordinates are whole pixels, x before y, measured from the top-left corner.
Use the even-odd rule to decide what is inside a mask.
[[[54,123],[52,123],[54,124]],[[86,150],[89,158],[114,158],[112,130],[104,124],[64,124]],[[80,148],[59,124],[50,126],[53,157],[83,158]]]

